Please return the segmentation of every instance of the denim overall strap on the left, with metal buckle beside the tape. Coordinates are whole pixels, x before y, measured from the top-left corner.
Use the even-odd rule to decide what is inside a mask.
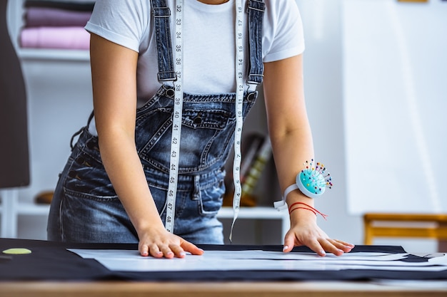
[[[177,79],[174,71],[174,58],[171,44],[171,9],[166,0],[151,0],[152,15],[154,16],[157,58],[159,61],[159,82]]]

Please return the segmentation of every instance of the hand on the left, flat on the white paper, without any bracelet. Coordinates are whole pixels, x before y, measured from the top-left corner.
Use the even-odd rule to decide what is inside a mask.
[[[141,256],[153,256],[155,258],[184,258],[186,252],[193,255],[204,254],[191,242],[169,233],[166,229],[156,228],[142,232],[139,236],[139,252]]]

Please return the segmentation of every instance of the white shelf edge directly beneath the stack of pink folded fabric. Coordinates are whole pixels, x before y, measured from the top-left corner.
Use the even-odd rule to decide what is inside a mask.
[[[19,48],[18,53],[22,60],[90,61],[90,53],[86,50]]]

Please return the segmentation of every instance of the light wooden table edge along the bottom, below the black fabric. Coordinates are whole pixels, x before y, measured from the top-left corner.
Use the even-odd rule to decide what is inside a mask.
[[[365,282],[3,282],[0,297],[446,297],[444,288]]]

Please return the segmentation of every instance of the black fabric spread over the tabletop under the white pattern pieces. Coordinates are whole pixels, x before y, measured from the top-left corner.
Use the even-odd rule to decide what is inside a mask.
[[[200,245],[205,251],[262,249],[281,251],[282,246]],[[447,270],[437,272],[342,270],[342,271],[191,271],[117,272],[109,271],[93,259],[82,259],[66,249],[137,249],[136,244],[66,244],[26,239],[0,239],[0,251],[30,249],[31,254],[0,258],[0,281],[367,281],[371,279],[447,279]],[[298,247],[293,252],[310,251]],[[401,246],[356,246],[353,253],[375,251],[406,253]],[[2,257],[6,256],[2,254]],[[175,260],[174,260],[175,261]],[[408,261],[426,261],[412,256]]]

